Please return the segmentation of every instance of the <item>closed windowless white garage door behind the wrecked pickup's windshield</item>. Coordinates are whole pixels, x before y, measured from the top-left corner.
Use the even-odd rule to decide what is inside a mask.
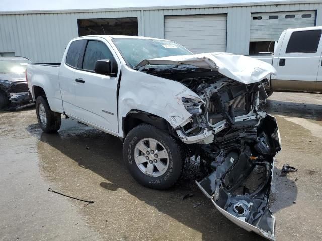
[[[165,16],[165,38],[193,53],[226,52],[227,15]]]

